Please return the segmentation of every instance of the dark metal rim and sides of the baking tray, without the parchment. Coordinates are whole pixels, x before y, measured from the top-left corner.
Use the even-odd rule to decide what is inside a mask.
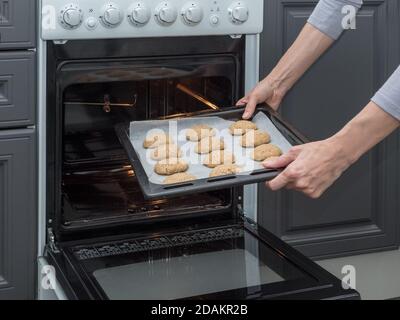
[[[244,112],[243,107],[232,107],[226,108],[222,111],[207,111],[200,113],[186,114],[185,116],[180,116],[176,119],[202,119],[207,117],[219,117],[228,121],[237,121],[242,118]],[[290,146],[299,145],[307,142],[307,139],[300,134],[295,128],[284,121],[280,115],[271,109],[269,106],[263,104],[257,106],[254,113],[257,116],[259,113],[268,117],[270,122],[273,124],[277,132],[286,139]],[[253,120],[253,119],[252,119]],[[231,188],[233,186],[242,186],[247,184],[253,184],[263,181],[268,181],[275,178],[281,170],[271,170],[260,168],[255,169],[252,172],[246,174],[238,175],[227,175],[215,178],[203,178],[194,181],[184,182],[180,184],[165,185],[160,183],[155,183],[151,181],[151,177],[148,175],[145,166],[140,160],[139,152],[134,148],[134,145],[130,138],[130,123],[121,123],[116,126],[116,132],[119,140],[126,150],[129,161],[135,171],[139,186],[143,192],[146,199],[155,198],[167,198],[176,197],[185,194],[193,194],[198,192],[207,192],[212,190],[220,190],[225,188]],[[274,143],[274,141],[272,141]],[[165,178],[165,177],[164,177]]]

